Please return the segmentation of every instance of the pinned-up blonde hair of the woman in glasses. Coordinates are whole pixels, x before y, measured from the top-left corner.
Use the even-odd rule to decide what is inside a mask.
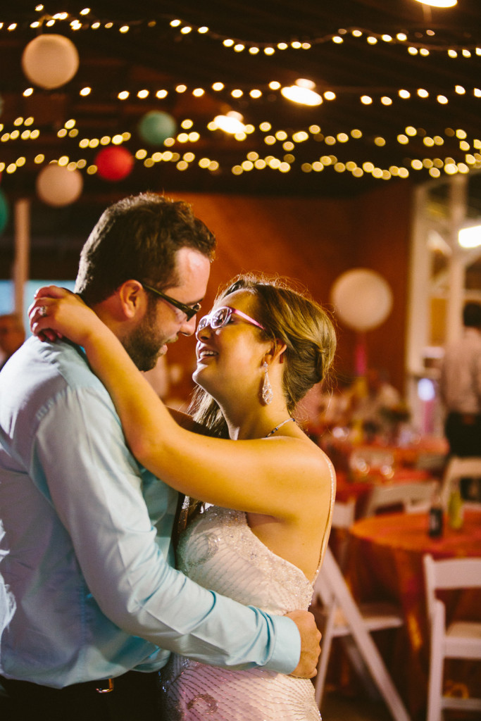
[[[255,319],[265,328],[260,331],[265,340],[286,344],[283,391],[292,415],[309,389],[329,376],[336,348],[330,316],[305,292],[294,290],[285,278],[238,275],[218,293],[216,302],[236,291],[255,296]],[[203,389],[196,389],[190,411],[214,435],[227,435],[219,405]]]

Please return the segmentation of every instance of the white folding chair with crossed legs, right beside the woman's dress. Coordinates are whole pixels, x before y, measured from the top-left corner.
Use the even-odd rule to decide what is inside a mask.
[[[371,603],[358,606],[340,571],[332,551],[327,548],[324,561],[314,585],[312,611],[322,619],[322,646],[317,676],[315,678],[316,701],[320,707],[325,687],[332,640],[350,637],[348,646],[351,663],[356,671],[365,676],[366,666],[379,693],[389,707],[395,721],[408,721],[409,715],[392,682],[371,632],[402,626],[400,611],[388,603]]]

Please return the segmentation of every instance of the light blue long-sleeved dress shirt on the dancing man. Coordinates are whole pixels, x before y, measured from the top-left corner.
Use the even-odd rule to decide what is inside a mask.
[[[0,373],[0,674],[61,688],[154,671],[169,651],[290,673],[291,619],[172,567],[176,505],[81,349],[27,340]]]

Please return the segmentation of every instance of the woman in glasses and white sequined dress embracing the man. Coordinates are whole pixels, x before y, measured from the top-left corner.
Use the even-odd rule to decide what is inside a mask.
[[[49,292],[32,305],[34,332],[53,329],[83,345],[138,461],[213,504],[182,535],[179,567],[275,614],[306,609],[329,536],[335,477],[292,414],[332,363],[335,333],[325,311],[279,281],[252,276],[219,295],[196,332],[195,418],[210,429],[206,436],[172,420],[93,311],[76,296]],[[172,721],[319,719],[311,681],[262,668],[226,671],[175,656],[162,683]]]

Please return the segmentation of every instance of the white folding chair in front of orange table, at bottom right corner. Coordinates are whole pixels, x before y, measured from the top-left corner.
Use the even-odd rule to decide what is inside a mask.
[[[426,721],[441,721],[442,709],[463,709],[479,713],[481,698],[462,699],[443,695],[443,671],[445,658],[481,661],[481,623],[454,621],[446,627],[446,607],[436,598],[436,589],[481,588],[481,558],[435,561],[430,554],[425,554],[423,563],[431,634]]]

